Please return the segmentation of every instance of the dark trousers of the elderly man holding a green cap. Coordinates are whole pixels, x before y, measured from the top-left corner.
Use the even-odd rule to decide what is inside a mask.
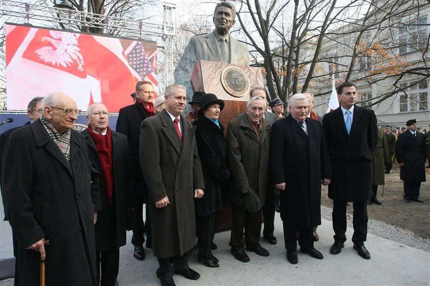
[[[231,205],[232,221],[230,246],[244,250],[243,234],[245,229],[246,247],[254,248],[259,245],[261,233],[261,209],[255,213],[248,212],[244,206]]]

